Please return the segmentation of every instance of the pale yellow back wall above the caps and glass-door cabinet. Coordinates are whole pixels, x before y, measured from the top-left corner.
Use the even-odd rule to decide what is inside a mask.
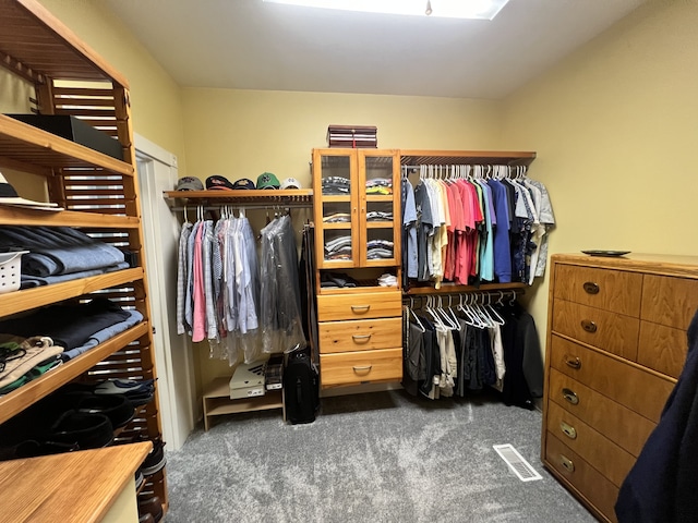
[[[183,89],[189,174],[274,172],[310,186],[310,155],[330,124],[375,125],[382,148],[496,148],[492,101],[407,96]]]

